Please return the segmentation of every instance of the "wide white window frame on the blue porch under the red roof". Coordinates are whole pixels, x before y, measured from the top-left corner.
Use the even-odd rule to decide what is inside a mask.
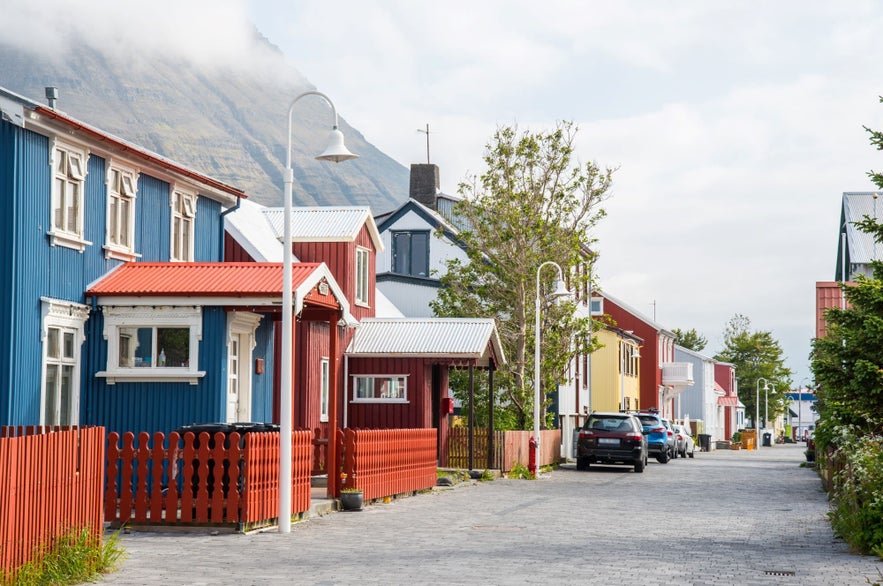
[[[107,384],[118,382],[188,382],[199,383],[205,376],[199,370],[199,342],[202,340],[202,308],[199,306],[117,307],[105,306],[104,339],[107,340],[107,370],[95,376],[103,377]],[[120,366],[121,328],[188,328],[190,330],[187,366],[160,366],[152,361],[149,367]],[[153,349],[154,353],[157,349]]]

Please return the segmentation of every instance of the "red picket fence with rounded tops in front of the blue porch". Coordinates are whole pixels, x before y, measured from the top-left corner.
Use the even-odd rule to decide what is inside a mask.
[[[152,439],[152,441],[151,441]],[[292,433],[294,512],[310,508],[311,433]],[[108,435],[104,514],[114,525],[268,524],[279,516],[279,433]]]

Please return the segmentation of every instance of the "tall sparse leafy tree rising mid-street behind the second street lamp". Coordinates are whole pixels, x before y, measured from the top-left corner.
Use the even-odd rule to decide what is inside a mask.
[[[594,240],[589,233],[604,216],[599,206],[614,170],[577,162],[576,133],[569,122],[548,132],[497,129],[485,149],[486,170],[477,180],[460,184],[464,198],[454,209],[465,226],[459,238],[468,260],[448,262],[432,304],[438,316],[496,318],[507,360],[495,376],[496,402],[503,411],[497,420],[516,429],[533,425],[538,267],[555,261],[571,291],[585,296],[591,290]],[[591,350],[594,339],[593,321],[577,315],[572,301],[547,298],[555,268],[545,267],[540,276],[541,384],[546,397],[570,359]]]

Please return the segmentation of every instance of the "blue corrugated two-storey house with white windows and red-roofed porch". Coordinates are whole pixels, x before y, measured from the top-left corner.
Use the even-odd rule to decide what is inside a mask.
[[[0,88],[0,425],[270,421],[281,272],[249,289],[221,263],[244,196]],[[346,318],[327,267],[303,268],[299,308]]]

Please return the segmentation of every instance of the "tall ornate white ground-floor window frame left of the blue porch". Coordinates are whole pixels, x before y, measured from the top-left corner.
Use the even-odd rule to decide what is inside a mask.
[[[85,324],[89,319],[89,307],[73,301],[62,301],[49,297],[41,298],[42,305],[42,326],[40,331],[40,339],[43,345],[43,359],[40,379],[40,425],[59,425],[61,423],[61,393],[56,392],[55,396],[58,403],[53,406],[54,418],[48,420],[46,418],[47,396],[46,381],[47,370],[50,365],[72,366],[71,373],[71,406],[68,413],[68,424],[78,425],[80,421],[80,363],[82,359],[81,348],[86,340]],[[52,358],[49,356],[49,331],[51,329],[60,330],[62,336],[65,332],[71,333],[73,339],[73,356]],[[63,338],[61,345],[64,345]]]

